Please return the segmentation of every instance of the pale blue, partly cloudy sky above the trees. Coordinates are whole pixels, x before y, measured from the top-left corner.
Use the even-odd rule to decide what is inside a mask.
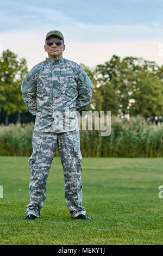
[[[65,37],[64,57],[77,63],[95,66],[117,54],[161,65],[162,11],[159,0],[7,0],[0,10],[0,50],[26,58],[30,69],[47,57],[42,45],[55,29]]]

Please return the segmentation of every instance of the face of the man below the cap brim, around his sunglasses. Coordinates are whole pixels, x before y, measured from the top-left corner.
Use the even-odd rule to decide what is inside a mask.
[[[58,36],[49,36],[48,40],[61,40]],[[62,41],[63,43],[63,41]],[[48,57],[51,59],[59,59],[62,57],[62,52],[65,51],[65,45],[61,44],[60,46],[56,45],[55,42],[53,42],[52,46],[45,45],[44,46],[45,51],[48,53]]]

